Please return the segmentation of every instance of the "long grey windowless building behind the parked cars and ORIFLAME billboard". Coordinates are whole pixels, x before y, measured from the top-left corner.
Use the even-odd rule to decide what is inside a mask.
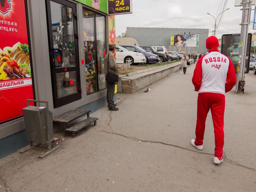
[[[170,38],[174,35],[199,34],[198,47],[186,47],[185,51],[189,53],[205,53],[205,41],[209,36],[208,29],[199,28],[149,28],[149,27],[127,27],[127,37],[135,38],[140,45],[162,45],[168,50],[178,50],[179,48],[170,45]],[[178,50],[179,51],[179,50]],[[182,50],[184,51],[184,50]]]

